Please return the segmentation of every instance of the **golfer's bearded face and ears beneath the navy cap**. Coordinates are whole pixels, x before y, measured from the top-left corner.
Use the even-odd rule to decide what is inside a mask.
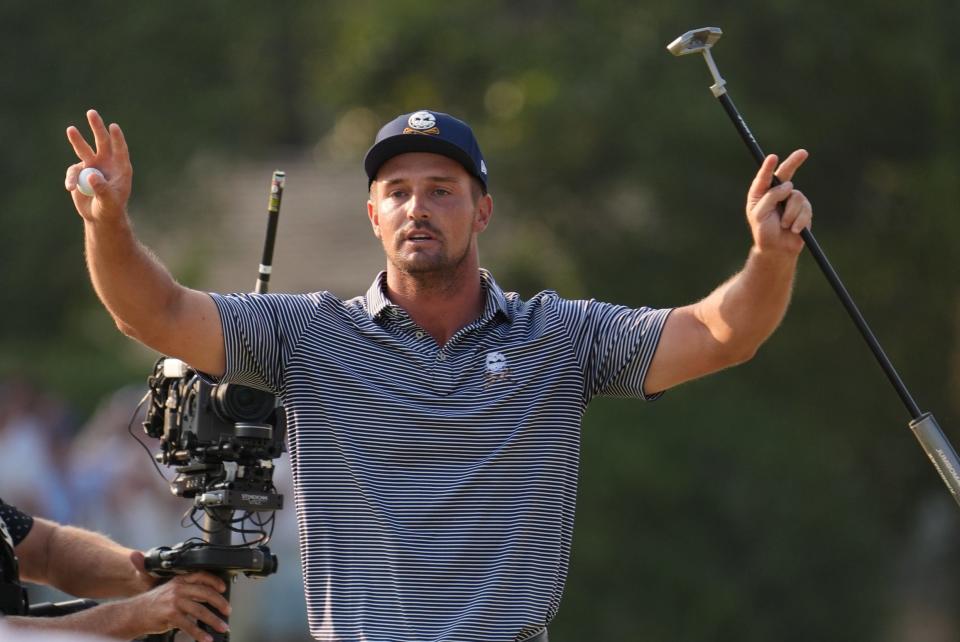
[[[384,163],[367,201],[387,261],[409,274],[453,271],[476,260],[476,235],[492,211],[492,199],[460,163],[420,152]]]

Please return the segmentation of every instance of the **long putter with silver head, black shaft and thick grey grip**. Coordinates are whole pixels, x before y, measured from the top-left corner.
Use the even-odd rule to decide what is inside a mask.
[[[743,117],[737,111],[737,108],[734,107],[733,100],[730,99],[730,95],[727,92],[727,83],[720,75],[720,70],[717,68],[717,64],[713,59],[713,54],[710,51],[713,45],[720,40],[720,36],[722,35],[723,31],[717,27],[692,29],[667,45],[667,50],[670,51],[670,53],[672,53],[674,56],[686,56],[693,53],[703,54],[704,61],[707,63],[707,68],[710,70],[710,75],[713,77],[713,85],[710,86],[710,91],[713,93],[714,97],[720,101],[720,104],[723,105],[723,109],[727,112],[727,116],[730,117],[734,127],[737,128],[740,138],[747,145],[747,149],[750,150],[754,160],[756,160],[757,164],[759,165],[763,163],[763,159],[765,158],[763,150],[760,148],[760,144],[750,131],[750,128],[747,127],[746,121],[743,120]],[[779,184],[780,180],[774,176],[772,185]],[[827,260],[826,255],[823,253],[823,250],[820,249],[820,244],[817,243],[813,233],[809,229],[804,229],[801,231],[800,236],[803,238],[807,249],[810,250],[810,254],[813,255],[813,259],[817,262],[817,265],[820,266],[820,270],[823,272],[823,275],[827,278],[827,281],[830,283],[831,287],[833,287],[834,292],[836,292],[837,296],[840,298],[840,302],[843,304],[843,307],[847,310],[847,313],[850,315],[851,319],[853,319],[854,325],[857,326],[860,334],[867,342],[867,345],[870,347],[870,351],[877,359],[877,362],[883,369],[884,374],[886,374],[887,379],[890,380],[890,383],[893,385],[894,389],[897,391],[897,394],[900,396],[901,401],[906,406],[907,411],[910,413],[910,429],[913,431],[913,434],[916,436],[917,440],[920,442],[920,445],[927,453],[927,456],[933,463],[934,468],[936,468],[937,472],[940,473],[940,478],[943,479],[943,482],[953,494],[954,500],[960,504],[960,460],[958,460],[957,453],[954,451],[953,446],[950,445],[950,442],[944,436],[943,431],[940,430],[940,426],[937,424],[937,420],[933,417],[933,414],[929,412],[922,412],[920,407],[917,405],[917,402],[914,401],[910,391],[907,390],[907,387],[900,378],[900,375],[893,367],[890,359],[887,358],[886,353],[884,353],[883,348],[880,346],[880,342],[877,341],[877,338],[870,329],[870,326],[867,325],[866,319],[864,319],[863,315],[860,314],[860,310],[853,302],[853,299],[847,292],[846,287],[844,287],[843,282],[837,275],[836,270],[833,269],[833,266],[830,265],[830,261]]]

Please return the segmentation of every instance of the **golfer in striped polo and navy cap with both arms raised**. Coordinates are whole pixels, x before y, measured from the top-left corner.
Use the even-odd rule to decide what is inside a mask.
[[[780,322],[809,202],[768,157],[744,269],[674,310],[505,293],[481,270],[493,214],[473,132],[439,112],[385,125],[367,216],[386,271],[367,294],[220,296],[177,284],[135,239],[123,133],[67,129],[66,188],[97,294],[124,333],[283,399],[311,633],[318,640],[546,641],[573,532],[580,419],[749,359]],[[98,167],[93,197],[77,189]],[[778,216],[778,204],[784,204]]]

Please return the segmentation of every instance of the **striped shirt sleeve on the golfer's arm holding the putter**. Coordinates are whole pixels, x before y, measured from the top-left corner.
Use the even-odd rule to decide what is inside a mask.
[[[584,375],[584,398],[597,395],[652,401],[643,384],[672,308],[628,308],[593,299],[557,299],[557,309]]]

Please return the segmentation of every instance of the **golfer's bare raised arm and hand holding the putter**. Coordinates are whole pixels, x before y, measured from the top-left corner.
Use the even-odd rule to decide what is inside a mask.
[[[779,168],[776,156],[764,160],[747,194],[753,247],[746,264],[703,300],[670,314],[644,392],[666,390],[748,361],[780,324],[803,250],[800,232],[813,218],[810,202],[791,182],[806,159],[807,152],[798,150]],[[771,188],[775,170],[783,183]],[[777,210],[781,202],[782,216]]]

